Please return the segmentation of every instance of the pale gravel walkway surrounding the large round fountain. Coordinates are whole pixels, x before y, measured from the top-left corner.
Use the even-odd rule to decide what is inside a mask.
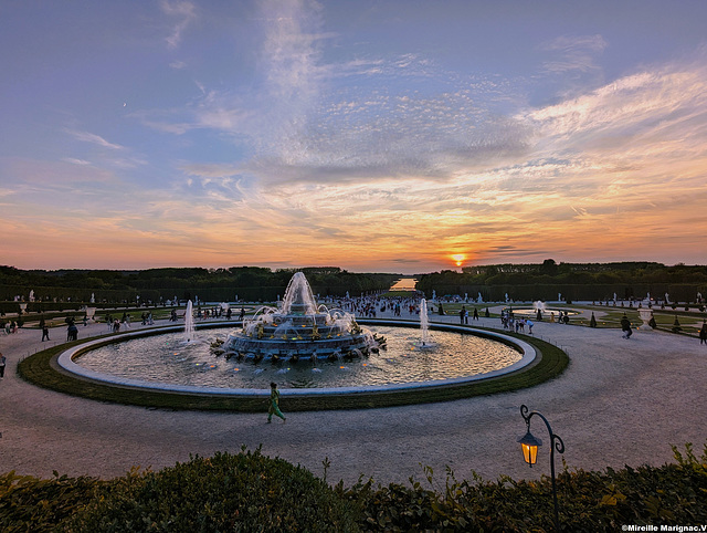
[[[455,316],[433,321],[458,322]],[[499,327],[497,318],[481,325]],[[105,324],[80,327],[80,338],[105,333]],[[133,326],[136,326],[134,324]],[[265,414],[192,412],[103,404],[44,390],[17,376],[17,362],[38,349],[41,332],[0,335],[8,357],[0,382],[0,472],[112,478],[133,466],[160,469],[190,454],[238,452],[243,445],[323,473],[356,482],[423,479],[430,466],[443,483],[444,466],[457,478],[475,470],[531,478],[549,473],[549,439],[539,468],[523,462],[516,438],[525,432],[519,406],[540,410],[564,441],[570,468],[621,468],[672,461],[671,445],[707,441],[707,346],[694,337],[537,323],[534,333],[562,346],[571,363],[562,376],[537,387],[453,403],[386,409],[292,412],[287,424],[265,424]],[[65,338],[65,330],[52,331]],[[61,337],[61,338],[60,338]],[[561,468],[560,458],[557,459]]]

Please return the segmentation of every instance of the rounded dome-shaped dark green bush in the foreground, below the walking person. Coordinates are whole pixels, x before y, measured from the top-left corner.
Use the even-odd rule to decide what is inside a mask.
[[[312,472],[255,452],[192,457],[98,491],[72,531],[356,531],[348,506]]]

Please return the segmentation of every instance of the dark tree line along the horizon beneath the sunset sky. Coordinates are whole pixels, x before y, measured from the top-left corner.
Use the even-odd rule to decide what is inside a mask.
[[[146,270],[20,270],[0,265],[0,300],[17,295],[38,300],[87,302],[166,300],[274,301],[283,296],[292,275],[302,271],[315,294],[351,296],[387,291],[399,273],[355,273],[338,266],[277,269],[232,266],[224,269],[162,268]],[[707,295],[707,265],[665,265],[657,262],[499,263],[465,266],[462,272],[442,270],[415,275],[416,289],[426,297],[465,294],[484,301],[555,300],[561,292],[568,300],[643,299],[650,292],[656,299],[669,293],[673,301],[695,301]],[[139,297],[138,297],[139,296]]]

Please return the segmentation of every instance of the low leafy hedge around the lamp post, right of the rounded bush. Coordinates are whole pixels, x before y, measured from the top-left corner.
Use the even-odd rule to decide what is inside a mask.
[[[677,464],[606,469],[605,472],[570,472],[558,475],[560,524],[563,531],[621,531],[623,524],[707,523],[707,446],[701,459],[687,445]],[[500,477],[457,481],[447,468],[446,482],[430,488],[410,480],[410,487],[373,487],[359,482],[337,492],[355,504],[361,527],[368,531],[552,531],[551,482],[515,481]]]

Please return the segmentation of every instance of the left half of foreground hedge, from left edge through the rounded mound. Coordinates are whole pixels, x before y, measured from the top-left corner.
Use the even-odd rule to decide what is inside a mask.
[[[54,475],[0,477],[0,531],[358,531],[326,482],[260,449],[112,481]]]

